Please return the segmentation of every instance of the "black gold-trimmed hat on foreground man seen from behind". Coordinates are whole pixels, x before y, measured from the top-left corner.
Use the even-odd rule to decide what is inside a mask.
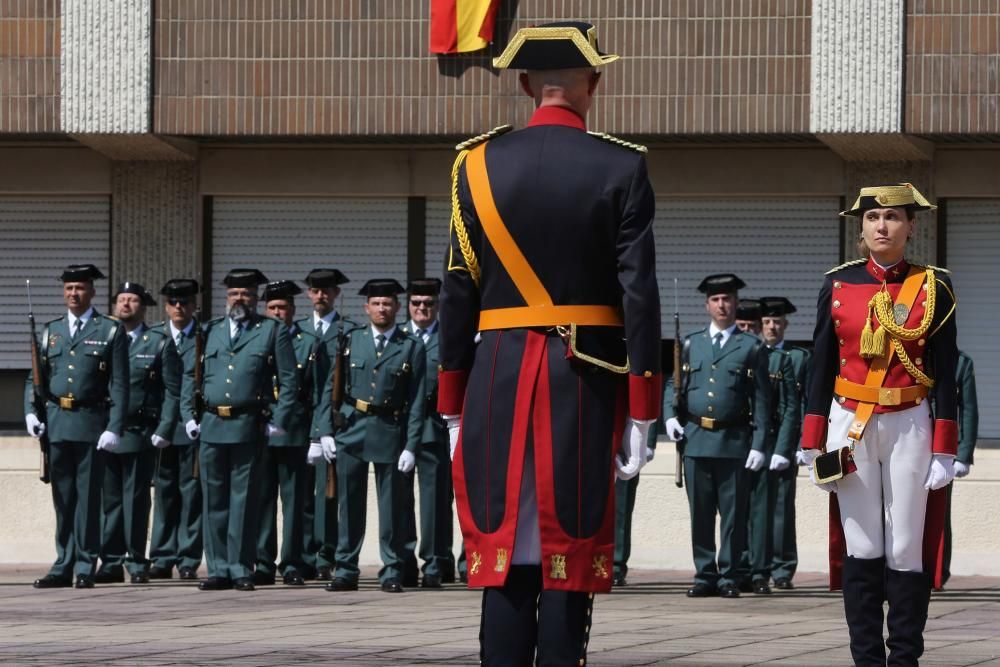
[[[499,57],[497,69],[573,69],[601,67],[618,56],[601,52],[597,28],[581,21],[560,21],[521,28]]]

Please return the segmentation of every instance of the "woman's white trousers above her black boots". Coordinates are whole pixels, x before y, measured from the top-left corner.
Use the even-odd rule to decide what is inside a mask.
[[[826,449],[846,447],[854,411],[830,408]],[[923,570],[924,481],[933,428],[927,403],[872,415],[854,449],[858,470],[837,482],[847,555],[880,558],[892,570]]]

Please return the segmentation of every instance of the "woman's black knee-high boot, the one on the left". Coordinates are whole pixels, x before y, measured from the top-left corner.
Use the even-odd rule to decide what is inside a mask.
[[[844,615],[851,633],[851,656],[858,667],[885,665],[882,601],[885,600],[885,558],[844,560]]]

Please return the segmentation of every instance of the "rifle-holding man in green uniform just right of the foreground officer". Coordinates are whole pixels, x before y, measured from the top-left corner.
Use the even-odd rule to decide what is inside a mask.
[[[686,440],[684,478],[695,565],[688,597],[740,596],[750,472],[760,470],[767,458],[767,428],[755,420],[771,414],[768,357],[756,336],[736,327],[737,292],[744,286],[731,273],[708,276],[698,286],[712,322],[685,338],[682,386],[669,387],[664,401],[672,406],[673,392],[681,392],[681,409],[667,409],[666,429],[671,440]]]

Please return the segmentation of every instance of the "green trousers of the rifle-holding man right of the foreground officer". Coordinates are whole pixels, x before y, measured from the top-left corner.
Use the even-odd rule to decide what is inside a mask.
[[[739,583],[738,568],[746,544],[750,499],[750,477],[743,465],[743,459],[684,457],[695,583],[709,586]],[[716,516],[720,522],[718,555]]]

